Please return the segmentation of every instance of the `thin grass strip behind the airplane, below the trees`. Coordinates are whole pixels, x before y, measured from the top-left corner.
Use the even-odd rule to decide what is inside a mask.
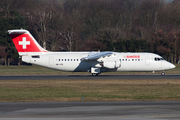
[[[165,71],[166,74],[180,74],[180,65],[176,68]],[[160,74],[156,72],[155,74]],[[90,74],[88,72],[62,72],[36,65],[32,66],[0,66],[0,75],[59,75],[59,74]],[[152,74],[152,72],[107,72],[102,74]]]

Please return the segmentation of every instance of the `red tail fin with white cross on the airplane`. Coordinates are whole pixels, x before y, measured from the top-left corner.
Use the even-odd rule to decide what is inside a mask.
[[[27,30],[8,30],[20,56],[48,52],[43,49]]]

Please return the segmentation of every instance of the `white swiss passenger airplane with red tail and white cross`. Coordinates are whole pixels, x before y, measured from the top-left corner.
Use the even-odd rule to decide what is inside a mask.
[[[154,53],[50,52],[43,49],[27,30],[8,30],[22,61],[70,72],[164,71],[173,64]]]

